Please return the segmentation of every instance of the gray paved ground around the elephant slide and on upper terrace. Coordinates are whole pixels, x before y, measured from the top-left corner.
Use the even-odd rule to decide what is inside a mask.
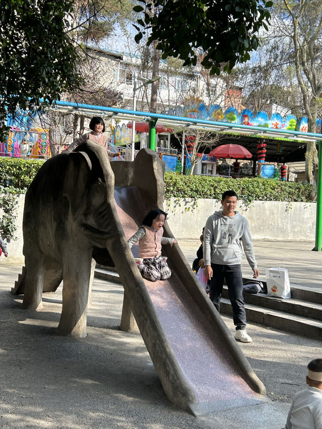
[[[285,259],[291,283],[321,287],[321,253],[312,242],[254,242],[259,269]],[[180,240],[189,262],[196,240]],[[247,265],[247,262],[246,262]],[[244,274],[251,270],[243,263]],[[42,311],[21,309],[10,293],[21,264],[0,262],[1,429],[279,429],[304,387],[306,365],[321,357],[317,340],[250,323],[252,344],[239,344],[274,402],[193,417],[166,398],[140,334],[118,329],[123,288],[95,279],[88,336],[57,336],[61,287],[44,294]],[[229,317],[224,316],[233,331]],[[200,362],[207,370],[207,362]]]

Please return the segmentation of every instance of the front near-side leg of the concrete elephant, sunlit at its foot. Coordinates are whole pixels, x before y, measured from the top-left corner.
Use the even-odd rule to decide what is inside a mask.
[[[71,248],[71,247],[69,247]],[[67,253],[67,252],[66,252]],[[92,249],[77,249],[63,258],[62,311],[58,333],[85,337]]]

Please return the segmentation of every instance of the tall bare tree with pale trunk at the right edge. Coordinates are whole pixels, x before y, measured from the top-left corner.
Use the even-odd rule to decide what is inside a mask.
[[[289,52],[290,64],[301,92],[303,113],[307,116],[308,132],[315,132],[322,91],[322,3],[319,0],[279,0],[275,7],[275,25],[280,43]],[[317,150],[308,142],[305,154],[306,180],[316,188]],[[316,197],[316,193],[312,196]]]

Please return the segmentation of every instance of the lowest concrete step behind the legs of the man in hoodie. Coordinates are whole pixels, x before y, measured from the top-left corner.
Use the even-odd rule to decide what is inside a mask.
[[[246,294],[245,294],[246,295]],[[261,323],[265,326],[279,328],[288,332],[297,333],[315,339],[322,339],[322,321],[305,316],[286,313],[245,303],[248,321]],[[232,308],[228,298],[221,298],[220,312],[232,315]]]

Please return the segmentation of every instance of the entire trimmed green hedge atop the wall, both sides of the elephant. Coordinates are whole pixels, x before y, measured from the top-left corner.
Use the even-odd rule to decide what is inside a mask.
[[[2,192],[26,192],[43,160],[0,157],[0,188]],[[307,183],[282,182],[270,179],[228,179],[206,176],[165,175],[165,199],[210,198],[221,199],[227,189],[236,192],[239,199],[251,202],[299,201],[308,202],[313,190]]]

